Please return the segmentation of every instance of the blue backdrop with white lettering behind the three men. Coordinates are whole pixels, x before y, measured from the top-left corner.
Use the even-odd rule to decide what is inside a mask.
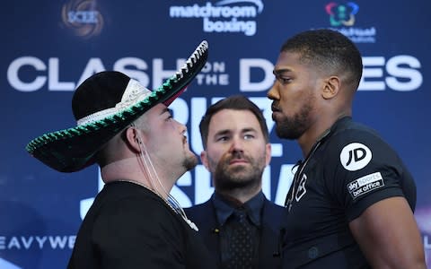
[[[65,268],[82,217],[102,187],[95,166],[62,174],[24,150],[40,134],[75,126],[75,86],[93,73],[115,69],[157,87],[202,39],[210,45],[208,63],[172,104],[174,117],[188,126],[198,154],[198,121],[207,106],[231,94],[249,96],[271,130],[273,157],[264,191],[282,204],[301,152],[295,142],[277,138],[266,92],[282,42],[316,28],[340,30],[363,54],[354,118],[382,134],[416,178],[415,216],[430,264],[430,8],[427,0],[5,2],[0,11],[0,268]],[[207,171],[198,165],[172,194],[189,206],[212,191]]]

